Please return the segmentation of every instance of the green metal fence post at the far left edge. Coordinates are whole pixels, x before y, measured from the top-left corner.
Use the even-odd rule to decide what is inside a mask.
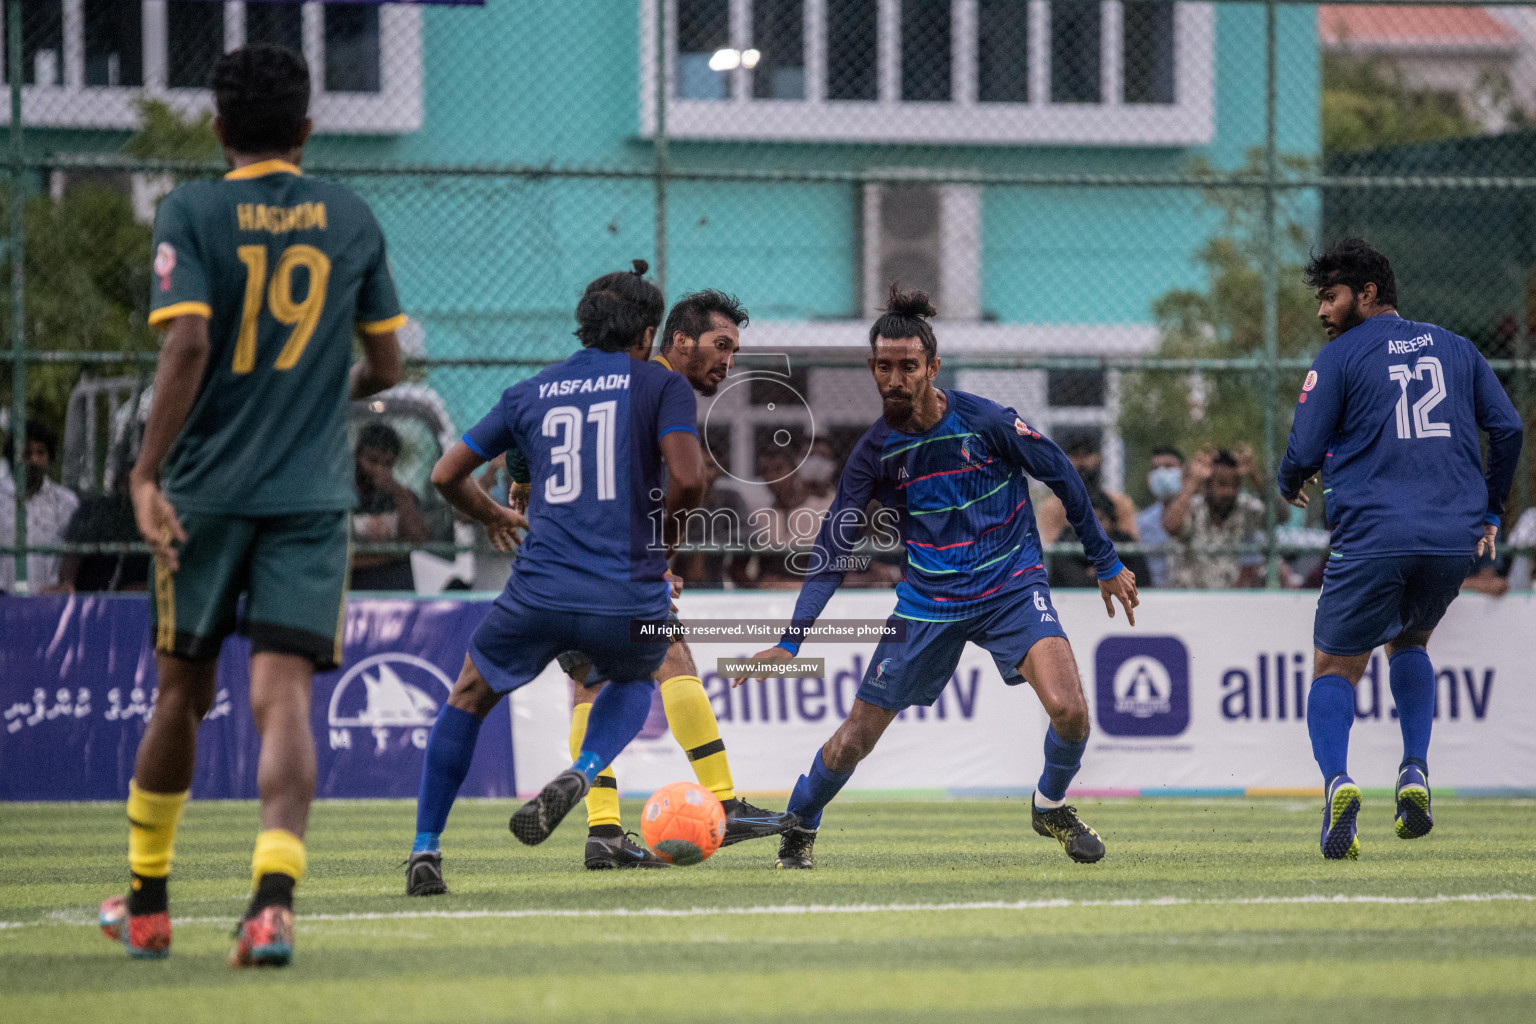
[[[6,71],[11,80],[11,484],[15,516],[15,593],[26,585],[26,204],[22,177],[22,0],[6,5]]]

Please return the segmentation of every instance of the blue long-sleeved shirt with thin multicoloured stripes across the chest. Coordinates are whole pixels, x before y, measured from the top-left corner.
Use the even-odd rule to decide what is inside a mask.
[[[871,499],[895,513],[906,547],[895,588],[895,614],[905,619],[968,619],[1044,582],[1026,473],[1061,499],[1100,579],[1123,568],[1087,488],[1055,442],[997,402],[965,391],[945,398],[948,408],[931,430],[908,434],[882,419],[854,445],[805,559],[808,576],[780,646],[799,649],[800,631],[843,582]]]

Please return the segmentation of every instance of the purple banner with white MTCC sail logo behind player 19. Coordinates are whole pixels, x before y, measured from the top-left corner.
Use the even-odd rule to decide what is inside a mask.
[[[343,666],[315,677],[316,797],[415,797],[427,734],[485,602],[349,600]],[[198,729],[192,794],[257,797],[250,645],[224,643]],[[154,715],[144,596],[0,597],[0,800],[121,800]],[[504,702],[481,731],[465,797],[516,794]]]

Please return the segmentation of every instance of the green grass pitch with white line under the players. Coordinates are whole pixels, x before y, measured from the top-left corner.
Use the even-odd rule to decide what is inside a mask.
[[[1103,801],[1069,863],[1023,801],[840,801],[814,872],[773,840],[699,867],[587,872],[574,814],[544,846],[505,801],[445,834],[453,894],[407,900],[406,801],[324,803],[295,964],[224,967],[255,809],[192,803],[175,952],[94,926],[124,880],[120,806],[0,806],[8,1021],[1531,1021],[1536,806],[1436,803],[1402,841],[1369,798],[1362,860],[1318,855],[1312,801]],[[627,804],[627,821],[637,806]]]

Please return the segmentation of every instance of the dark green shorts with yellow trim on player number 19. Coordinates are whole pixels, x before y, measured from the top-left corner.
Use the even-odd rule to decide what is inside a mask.
[[[155,649],[218,657],[237,628],[253,654],[300,654],[318,671],[341,663],[349,513],[286,516],[181,513],[187,540],[175,573],[155,560]],[[244,596],[244,609],[240,599]]]

